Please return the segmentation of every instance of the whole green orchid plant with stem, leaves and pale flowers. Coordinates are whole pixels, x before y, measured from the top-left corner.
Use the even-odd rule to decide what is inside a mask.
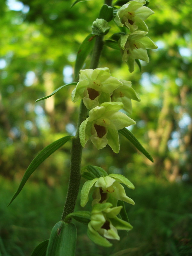
[[[78,2],[82,1],[76,0],[74,4]],[[112,6],[112,0],[105,0],[99,18],[90,26],[92,33],[85,38],[77,53],[74,73],[75,77],[79,74],[78,82],[65,84],[37,100],[51,97],[65,86],[75,85],[72,101],[75,103],[81,100],[81,106],[76,136],[65,136],[44,148],[29,165],[11,200],[12,202],[15,199],[29,176],[48,156],[68,140],[72,140],[70,179],[61,220],[53,227],[49,240],[39,244],[32,256],[74,256],[76,226],[71,223],[72,218],[86,224],[88,237],[95,244],[105,247],[112,246],[113,240],[120,240],[118,230],[132,229],[124,207],[124,202],[135,204],[124,189],[124,186],[134,189],[132,182],[121,174],[107,173],[107,170],[99,166],[87,165],[81,168],[81,156],[82,149],[89,140],[98,150],[108,144],[117,154],[120,149],[118,133],[121,133],[153,162],[153,158],[126,128],[136,124],[129,115],[132,113],[131,101],[140,101],[140,96],[133,89],[131,81],[118,80],[111,76],[108,67],[98,68],[104,44],[119,49],[119,54],[127,63],[130,72],[134,71],[135,62],[140,67],[139,60],[149,61],[146,49],[156,49],[157,46],[146,36],[148,27],[145,20],[154,13],[146,5],[144,0],[132,0],[117,1]],[[119,30],[108,38],[111,20],[115,21]],[[90,67],[82,69],[91,52]],[[87,180],[81,189],[81,207],[86,206],[92,195],[92,208],[74,212],[81,177]]]

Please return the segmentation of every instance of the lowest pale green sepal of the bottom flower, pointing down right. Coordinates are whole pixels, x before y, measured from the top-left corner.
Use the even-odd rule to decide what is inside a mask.
[[[88,224],[87,236],[95,244],[98,244],[100,246],[111,247],[113,245],[106,238],[104,238],[103,236],[100,236],[100,234],[92,228],[90,223]]]

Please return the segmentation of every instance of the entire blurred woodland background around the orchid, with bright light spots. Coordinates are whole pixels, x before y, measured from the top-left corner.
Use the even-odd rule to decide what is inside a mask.
[[[41,164],[15,202],[9,208],[6,205],[36,154],[52,141],[74,134],[79,105],[70,99],[74,86],[47,100],[35,100],[73,81],[79,44],[91,33],[103,1],[78,3],[71,9],[66,0],[0,3],[0,253],[30,255],[60,220],[70,142]],[[189,0],[150,2],[155,15],[147,20],[149,37],[158,49],[148,51],[149,64],[141,61],[142,73],[136,66],[130,74],[119,52],[104,46],[100,67],[109,67],[117,79],[132,81],[140,94],[141,102],[132,102],[130,117],[137,125],[131,128],[154,157],[154,164],[121,135],[118,155],[110,148],[98,151],[87,143],[82,166],[98,165],[122,173],[136,185],[128,192],[136,205],[127,209],[134,229],[123,233],[120,244],[106,251],[93,245],[85,235],[86,227],[77,223],[77,255],[191,253],[190,6]],[[110,25],[112,34],[117,28],[113,22]],[[84,68],[89,61],[88,57]]]

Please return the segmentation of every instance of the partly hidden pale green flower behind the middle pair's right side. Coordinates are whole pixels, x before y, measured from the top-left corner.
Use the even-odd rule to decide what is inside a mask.
[[[123,83],[122,86],[114,90],[111,95],[111,101],[121,101],[124,104],[124,110],[128,114],[132,114],[132,100],[140,101],[140,97],[131,86],[131,82],[125,80],[119,80]]]

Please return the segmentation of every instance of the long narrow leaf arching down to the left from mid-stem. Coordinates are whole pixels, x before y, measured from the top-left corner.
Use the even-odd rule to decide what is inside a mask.
[[[68,140],[71,140],[73,138],[73,136],[65,136],[63,138],[60,138],[59,140],[54,141],[53,143],[51,143],[50,145],[46,146],[43,150],[41,150],[41,152],[33,159],[33,161],[29,164],[21,182],[19,185],[19,188],[17,189],[17,191],[15,192],[15,194],[13,195],[10,203],[8,205],[10,205],[12,203],[12,201],[15,199],[16,196],[19,195],[21,189],[23,188],[23,186],[25,185],[26,181],[28,180],[28,178],[31,176],[31,174],[36,170],[36,168],[43,163],[43,161],[50,156],[53,152],[55,152],[55,150],[57,150],[58,148],[60,148],[61,146],[63,146]]]

